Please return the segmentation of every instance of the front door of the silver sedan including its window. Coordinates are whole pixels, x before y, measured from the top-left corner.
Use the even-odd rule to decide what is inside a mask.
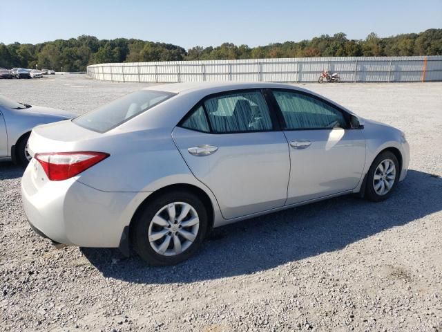
[[[308,93],[273,90],[289,142],[291,172],[287,205],[353,190],[365,164],[361,129],[349,115]]]

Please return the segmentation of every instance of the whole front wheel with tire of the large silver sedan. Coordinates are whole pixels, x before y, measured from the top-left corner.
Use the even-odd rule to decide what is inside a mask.
[[[398,183],[400,172],[398,159],[391,151],[379,154],[367,173],[365,197],[374,202],[388,199]]]

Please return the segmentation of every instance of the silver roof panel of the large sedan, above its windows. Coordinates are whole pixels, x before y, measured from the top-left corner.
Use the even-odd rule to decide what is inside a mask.
[[[195,91],[204,92],[209,95],[211,93],[218,93],[229,90],[240,89],[264,89],[264,88],[282,88],[294,89],[298,91],[307,91],[289,84],[269,83],[269,82],[185,82],[185,83],[171,83],[162,85],[153,85],[144,88],[143,90],[166,91],[171,93],[190,93]],[[311,92],[311,91],[309,91]]]

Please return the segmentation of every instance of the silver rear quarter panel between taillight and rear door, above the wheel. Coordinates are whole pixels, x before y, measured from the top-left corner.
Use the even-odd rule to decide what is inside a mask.
[[[187,184],[203,190],[211,200],[215,224],[223,220],[215,196],[198,181],[171,138],[170,128],[117,133],[78,142],[77,151],[111,154],[79,174],[79,182],[104,192],[155,192],[163,187]]]

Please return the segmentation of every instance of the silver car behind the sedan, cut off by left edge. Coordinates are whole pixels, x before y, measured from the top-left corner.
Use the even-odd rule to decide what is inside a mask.
[[[73,117],[59,109],[22,104],[0,95],[0,161],[28,165],[26,145],[32,128]]]

